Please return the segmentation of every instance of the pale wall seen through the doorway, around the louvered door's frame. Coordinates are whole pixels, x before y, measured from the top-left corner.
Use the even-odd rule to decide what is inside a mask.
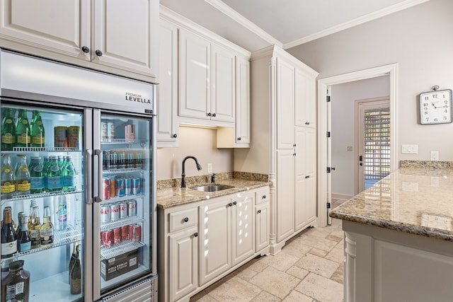
[[[389,76],[338,84],[331,87],[332,194],[350,198],[355,195],[355,112],[356,100],[389,95]],[[352,150],[348,151],[348,146]]]

